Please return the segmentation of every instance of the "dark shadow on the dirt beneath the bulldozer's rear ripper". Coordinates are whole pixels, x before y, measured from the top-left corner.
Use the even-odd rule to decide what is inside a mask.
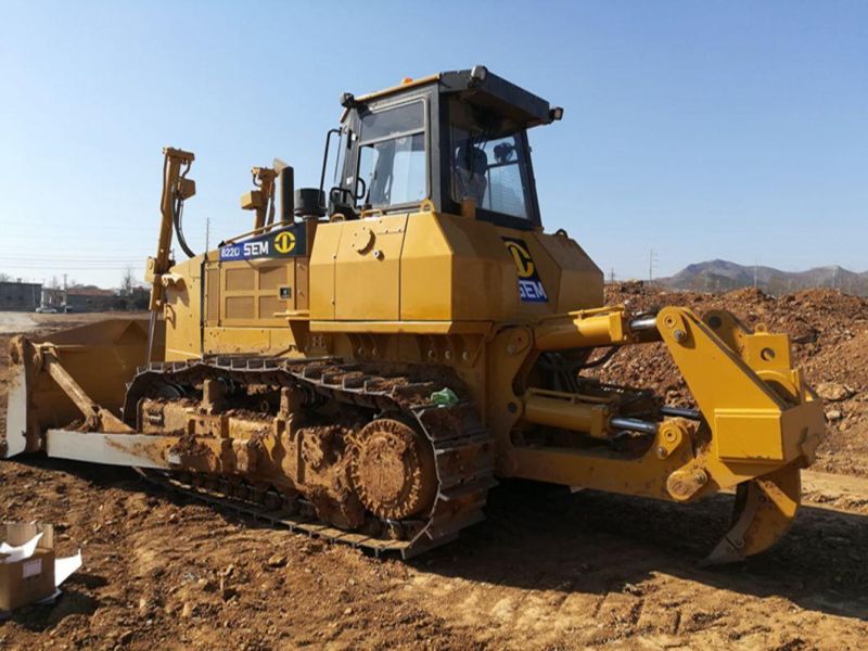
[[[802,507],[790,533],[744,563],[701,567],[729,524],[732,496],[697,505],[507,482],[487,520],[417,569],[528,590],[634,591],[660,574],[806,610],[868,620],[868,516]],[[638,588],[641,589],[641,588]]]

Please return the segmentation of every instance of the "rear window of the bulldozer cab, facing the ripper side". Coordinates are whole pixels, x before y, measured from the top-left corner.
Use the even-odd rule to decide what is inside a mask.
[[[459,100],[450,105],[450,123],[452,199],[528,219],[524,130]]]

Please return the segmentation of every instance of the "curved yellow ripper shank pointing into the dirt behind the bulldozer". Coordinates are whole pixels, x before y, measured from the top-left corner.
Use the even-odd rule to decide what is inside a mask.
[[[790,529],[801,494],[800,469],[795,465],[739,484],[732,525],[703,564],[742,561],[775,545]]]

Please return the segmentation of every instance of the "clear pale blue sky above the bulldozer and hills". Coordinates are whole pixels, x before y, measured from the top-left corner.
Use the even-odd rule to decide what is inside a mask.
[[[868,269],[865,2],[0,3],[0,272],[111,286],[192,150],[194,248],[275,156],[318,183],[343,91],[485,64],[565,107],[544,222],[607,273],[711,258]]]

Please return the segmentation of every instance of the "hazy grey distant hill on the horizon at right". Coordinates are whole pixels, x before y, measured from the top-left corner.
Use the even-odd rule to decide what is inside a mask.
[[[834,288],[848,294],[868,295],[868,271],[857,273],[843,267],[817,267],[807,271],[781,271],[773,267],[710,260],[688,265],[675,276],[655,279],[662,285],[700,292],[727,292],[756,285],[770,294],[786,294],[808,288]]]

